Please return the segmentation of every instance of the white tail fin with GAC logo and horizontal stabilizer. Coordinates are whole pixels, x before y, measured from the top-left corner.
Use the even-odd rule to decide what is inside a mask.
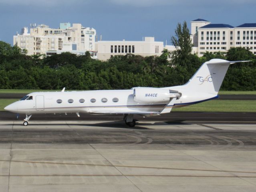
[[[218,94],[228,67],[238,62],[248,61],[212,59],[205,62],[184,86],[195,92]]]

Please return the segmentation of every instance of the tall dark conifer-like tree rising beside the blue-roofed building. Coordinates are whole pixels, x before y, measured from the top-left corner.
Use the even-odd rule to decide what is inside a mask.
[[[189,30],[185,21],[183,25],[181,25],[181,23],[177,24],[175,36],[171,37],[171,43],[177,49],[173,51],[172,64],[175,66],[187,66],[189,62],[188,57],[191,54],[193,44],[191,43]]]

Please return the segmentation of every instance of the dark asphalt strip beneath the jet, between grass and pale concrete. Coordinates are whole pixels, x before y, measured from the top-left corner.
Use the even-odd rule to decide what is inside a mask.
[[[0,120],[23,121],[24,114],[17,114],[1,111]],[[169,124],[182,123],[229,123],[229,124],[255,124],[256,113],[253,112],[171,112],[159,116],[145,117],[140,115],[134,116],[135,120],[139,121],[162,121]],[[96,115],[96,114],[33,114],[30,121],[122,121],[123,115]]]

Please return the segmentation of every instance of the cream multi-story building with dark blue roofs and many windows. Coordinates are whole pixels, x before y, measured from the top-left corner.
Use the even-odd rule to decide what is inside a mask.
[[[256,54],[256,24],[242,24],[233,27],[228,24],[211,24],[202,19],[191,21],[194,45],[198,56],[205,52],[226,53],[232,47],[245,47]]]

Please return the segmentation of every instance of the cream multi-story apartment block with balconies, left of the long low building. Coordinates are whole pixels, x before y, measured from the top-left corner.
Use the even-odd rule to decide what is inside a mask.
[[[95,50],[96,30],[81,24],[60,23],[60,28],[44,24],[30,29],[24,27],[22,34],[13,37],[13,44],[28,50],[28,55],[46,54],[47,51],[86,52]]]

